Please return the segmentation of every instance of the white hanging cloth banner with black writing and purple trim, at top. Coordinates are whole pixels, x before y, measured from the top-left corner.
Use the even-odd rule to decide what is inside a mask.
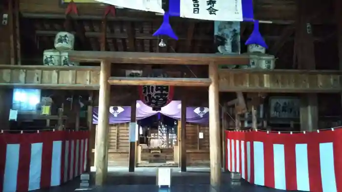
[[[96,0],[99,2],[136,9],[164,13],[162,0]],[[242,21],[253,19],[252,0],[170,0],[170,16],[183,18]]]

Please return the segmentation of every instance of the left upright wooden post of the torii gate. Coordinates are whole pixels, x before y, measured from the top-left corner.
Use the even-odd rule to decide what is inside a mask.
[[[100,71],[100,91],[99,91],[99,117],[96,129],[95,143],[95,185],[104,185],[107,177],[108,165],[108,132],[109,132],[109,96],[110,85],[108,78],[110,76],[110,63],[101,62]]]

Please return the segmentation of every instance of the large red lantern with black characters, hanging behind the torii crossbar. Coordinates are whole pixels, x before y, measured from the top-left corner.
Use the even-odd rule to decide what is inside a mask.
[[[168,77],[161,70],[153,70],[148,77]],[[160,111],[162,107],[169,104],[173,98],[173,86],[143,85],[139,86],[140,99],[153,111]]]

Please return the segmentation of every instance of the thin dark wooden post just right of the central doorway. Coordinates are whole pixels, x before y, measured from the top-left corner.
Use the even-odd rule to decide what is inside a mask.
[[[180,146],[180,171],[186,172],[187,171],[187,142],[186,134],[187,134],[187,101],[185,99],[186,96],[182,98],[181,104],[181,116],[180,116],[180,123],[181,123],[181,146]]]

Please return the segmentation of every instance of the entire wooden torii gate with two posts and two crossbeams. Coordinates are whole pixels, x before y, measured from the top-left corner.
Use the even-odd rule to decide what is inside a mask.
[[[96,130],[96,185],[107,177],[110,85],[209,86],[210,183],[221,181],[221,142],[218,98],[218,65],[246,64],[248,56],[217,54],[175,54],[144,52],[71,51],[69,58],[78,62],[101,62],[99,117]],[[111,63],[209,65],[209,78],[110,77]],[[115,66],[115,64],[113,64]]]

